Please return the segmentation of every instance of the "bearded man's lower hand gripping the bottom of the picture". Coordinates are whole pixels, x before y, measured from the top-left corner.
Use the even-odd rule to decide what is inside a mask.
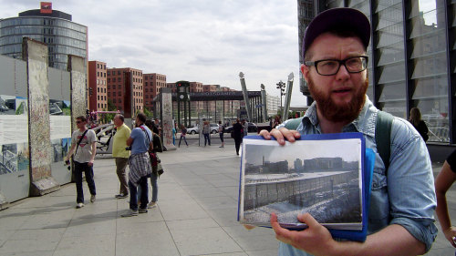
[[[275,238],[292,245],[296,249],[304,250],[313,255],[333,255],[337,241],[331,233],[318,223],[309,213],[299,214],[297,220],[306,223],[306,230],[294,231],[280,227],[277,215],[271,214],[271,225],[275,230]]]

